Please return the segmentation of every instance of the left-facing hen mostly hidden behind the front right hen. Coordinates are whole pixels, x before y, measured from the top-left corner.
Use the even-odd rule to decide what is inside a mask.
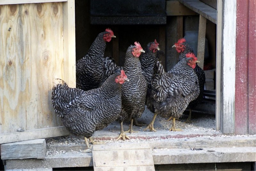
[[[194,53],[193,48],[188,43],[185,43],[185,42],[186,42],[186,39],[182,38],[182,39],[179,39],[178,42],[172,46],[172,47],[176,48],[176,51],[178,53],[180,53],[179,61],[183,58],[186,58],[186,54],[188,52]],[[188,119],[186,122],[189,122],[191,120],[192,109],[194,109],[203,100],[203,97],[204,97],[204,83],[205,83],[204,70],[202,68],[200,68],[197,64],[196,64],[196,67],[194,70],[195,70],[197,78],[198,78],[200,93],[199,93],[199,96],[195,100],[190,102],[188,105],[189,116],[188,116]]]

